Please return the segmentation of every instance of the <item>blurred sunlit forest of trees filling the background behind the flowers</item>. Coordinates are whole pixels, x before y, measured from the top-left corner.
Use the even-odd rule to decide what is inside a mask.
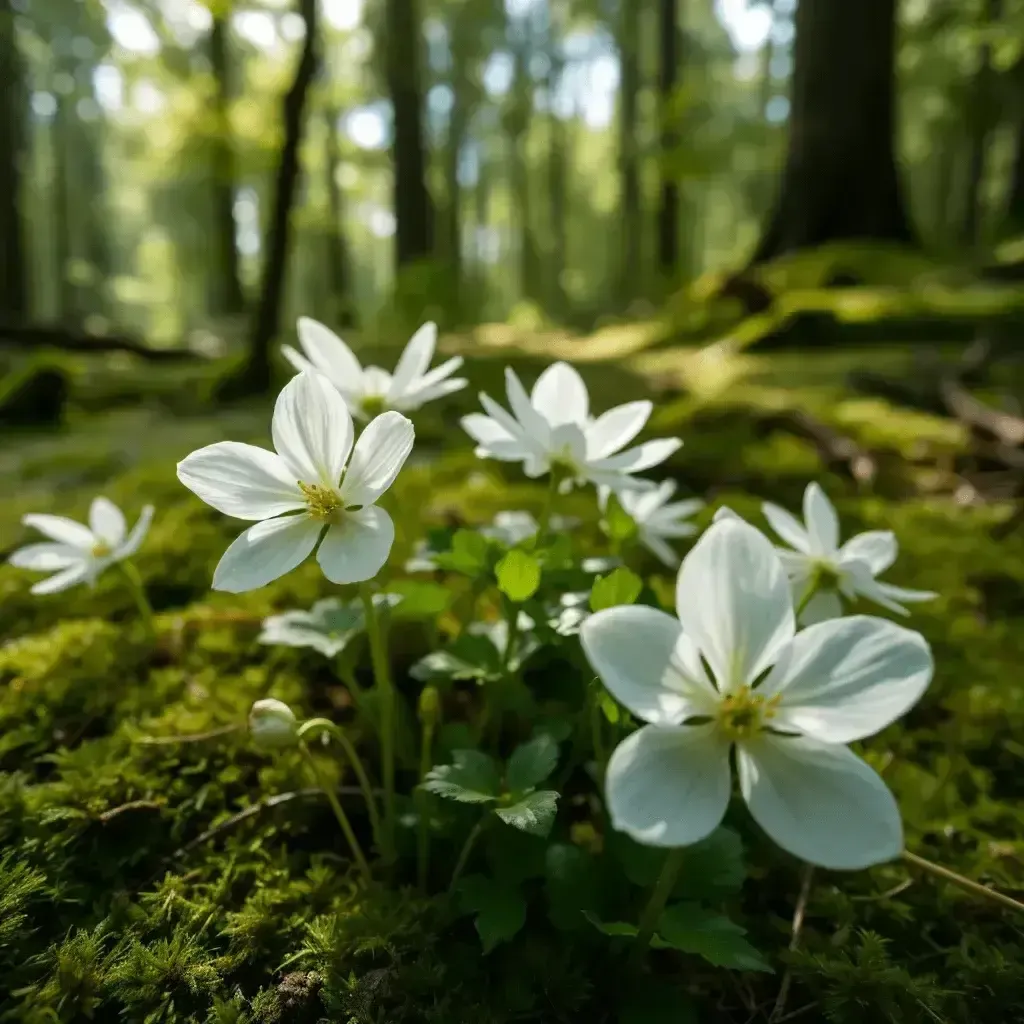
[[[590,329],[829,243],[984,262],[1022,45],[1022,0],[0,0],[0,333],[205,339],[258,391],[299,312]]]

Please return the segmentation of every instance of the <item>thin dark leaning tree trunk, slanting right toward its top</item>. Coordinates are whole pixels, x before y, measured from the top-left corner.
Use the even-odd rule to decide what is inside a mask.
[[[298,190],[301,166],[299,145],[305,120],[306,97],[316,75],[316,0],[299,0],[306,34],[292,86],[282,104],[285,140],[274,178],[273,210],[266,231],[259,301],[252,322],[249,358],[240,377],[228,384],[228,393],[266,391],[270,386],[270,343],[281,327],[282,297],[292,237],[292,206]]]

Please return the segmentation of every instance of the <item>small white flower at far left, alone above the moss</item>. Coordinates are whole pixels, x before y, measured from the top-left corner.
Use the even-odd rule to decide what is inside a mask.
[[[88,526],[58,515],[27,515],[22,522],[34,526],[50,543],[19,548],[10,556],[10,564],[54,573],[37,583],[33,594],[56,594],[80,583],[92,586],[103,569],[138,551],[152,521],[153,506],[146,505],[129,534],[124,513],[105,498],[93,500]]]

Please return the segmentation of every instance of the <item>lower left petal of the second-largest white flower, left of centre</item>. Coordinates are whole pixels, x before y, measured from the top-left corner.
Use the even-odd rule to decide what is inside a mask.
[[[213,589],[229,594],[265,587],[306,560],[323,523],[309,515],[288,515],[250,526],[234,539],[213,573]]]

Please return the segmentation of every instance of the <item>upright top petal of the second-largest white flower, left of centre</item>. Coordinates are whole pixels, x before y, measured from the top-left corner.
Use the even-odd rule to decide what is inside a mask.
[[[352,450],[345,399],[317,373],[293,377],[273,407],[273,446],[297,480],[336,487]]]

